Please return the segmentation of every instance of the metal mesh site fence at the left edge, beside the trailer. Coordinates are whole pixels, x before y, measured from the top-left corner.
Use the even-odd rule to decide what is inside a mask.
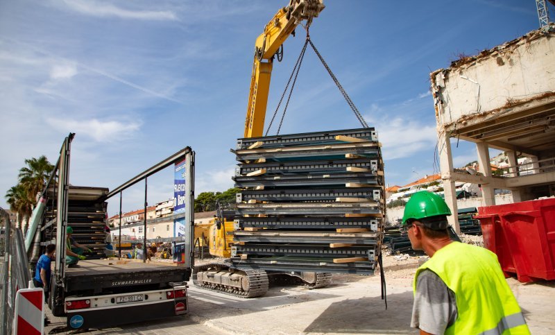
[[[11,334],[17,290],[31,281],[22,230],[12,227],[10,216],[0,208],[0,335]]]

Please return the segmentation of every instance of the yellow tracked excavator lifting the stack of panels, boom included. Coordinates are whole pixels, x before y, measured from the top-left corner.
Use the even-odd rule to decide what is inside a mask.
[[[274,15],[264,27],[255,44],[253,74],[250,79],[247,114],[244,137],[260,137],[264,131],[264,118],[270,89],[273,60],[282,57],[282,45],[289,35],[294,35],[295,28],[305,22],[310,26],[312,19],[325,8],[323,0],[290,0],[286,6]],[[218,206],[219,207],[219,206]],[[233,213],[218,209],[218,215],[210,227],[210,255],[229,259],[231,245],[234,243]],[[274,280],[302,282],[309,289],[327,286],[331,273],[269,273]],[[287,277],[284,277],[287,275]],[[194,284],[230,293],[244,298],[264,295],[268,291],[268,273],[264,270],[238,270],[229,267],[225,261],[217,264],[196,266],[193,274]]]

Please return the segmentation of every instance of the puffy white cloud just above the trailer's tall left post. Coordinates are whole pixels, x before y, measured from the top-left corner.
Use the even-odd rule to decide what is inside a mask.
[[[120,122],[120,121],[99,121],[90,119],[85,121],[69,120],[69,119],[46,119],[46,123],[65,132],[78,132],[87,137],[91,137],[95,141],[110,142],[128,138],[132,136],[139,128],[139,122]]]

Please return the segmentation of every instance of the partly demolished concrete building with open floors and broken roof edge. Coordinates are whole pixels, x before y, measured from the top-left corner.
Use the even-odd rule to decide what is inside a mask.
[[[445,200],[456,212],[455,182],[480,184],[483,205],[495,189],[515,202],[555,195],[555,24],[452,62],[430,74]],[[450,139],[477,147],[478,173],[453,167]],[[493,175],[489,148],[505,151],[506,173]],[[518,157],[531,164],[519,166]],[[450,223],[459,231],[455,216]]]

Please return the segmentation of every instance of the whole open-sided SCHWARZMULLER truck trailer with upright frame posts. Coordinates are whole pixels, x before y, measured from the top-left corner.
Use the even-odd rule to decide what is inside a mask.
[[[74,134],[70,134],[62,144],[60,159],[46,184],[46,210],[42,225],[37,229],[43,252],[49,243],[56,244],[48,298],[53,315],[67,316],[68,330],[83,331],[187,313],[187,281],[193,266],[194,151],[184,148],[109,192],[102,187],[69,184],[73,137]],[[173,164],[179,164],[187,181],[181,196],[185,203],[182,210],[187,236],[182,240],[185,262],[173,264],[106,257],[106,200],[114,195],[121,196],[123,190],[142,180],[145,181],[146,198],[146,178]],[[72,227],[78,243],[92,250],[76,266],[65,263],[67,227]]]

